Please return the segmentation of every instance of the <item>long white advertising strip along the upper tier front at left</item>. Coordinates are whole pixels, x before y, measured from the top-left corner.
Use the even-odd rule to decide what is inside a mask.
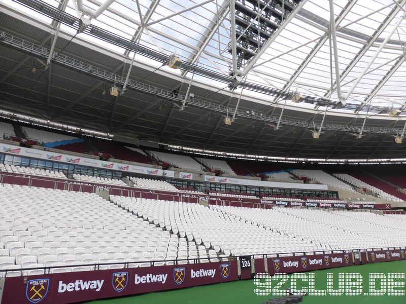
[[[116,162],[99,161],[95,159],[73,156],[68,154],[59,154],[50,151],[37,150],[32,148],[20,147],[10,144],[0,143],[0,151],[10,155],[25,156],[30,158],[41,159],[45,161],[53,161],[58,163],[66,163],[72,165],[83,165],[88,167],[111,169],[122,172],[132,172],[148,175],[165,175],[174,177],[175,172],[170,170],[155,169],[137,165],[121,164]],[[164,174],[165,173],[165,174]]]

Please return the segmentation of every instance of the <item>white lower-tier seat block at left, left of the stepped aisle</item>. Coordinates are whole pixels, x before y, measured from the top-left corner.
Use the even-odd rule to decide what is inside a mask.
[[[61,268],[51,273],[86,271],[91,267],[79,264],[164,260],[167,252],[175,259],[178,244],[187,247],[186,240],[95,194],[5,184],[0,185],[0,200],[0,269],[57,265]],[[149,263],[130,264],[138,266]],[[19,271],[8,274],[18,275]]]

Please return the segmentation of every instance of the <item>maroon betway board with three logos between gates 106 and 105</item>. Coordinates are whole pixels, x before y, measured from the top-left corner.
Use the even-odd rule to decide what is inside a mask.
[[[350,253],[315,254],[306,256],[281,256],[268,258],[268,273],[295,273],[342,267],[353,264]]]

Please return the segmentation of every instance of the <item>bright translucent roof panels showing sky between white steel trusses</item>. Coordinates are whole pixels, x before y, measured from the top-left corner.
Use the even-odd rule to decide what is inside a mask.
[[[67,1],[65,11],[78,17],[76,1]],[[196,62],[204,68],[228,74],[232,58],[231,54],[227,52],[231,33],[229,1],[214,0],[182,14],[150,24],[203,2],[157,1],[158,3],[151,0],[139,0],[140,14],[136,1],[116,0],[102,15],[93,19],[92,24],[117,33],[126,39],[132,39],[134,35],[142,31],[140,44],[167,55],[176,53],[183,61]],[[45,23],[52,21],[16,2],[11,0],[5,2]],[[54,7],[58,7],[60,4],[54,0],[45,0],[45,2]],[[401,5],[403,9],[406,9],[403,2]],[[351,1],[351,3],[354,2]],[[83,0],[83,5],[93,11],[100,4],[101,1],[98,0]],[[340,75],[342,75],[340,83],[344,93],[352,87],[360,72],[404,13],[400,8],[401,5],[396,6],[393,0],[357,0],[350,6],[347,0],[334,0],[336,20],[338,16],[343,17],[336,27],[339,68]],[[329,2],[328,0],[309,0],[304,4],[302,11],[310,12],[311,15],[299,12],[287,24],[249,72],[247,81],[282,90],[297,90],[302,94],[338,101],[334,86],[334,56],[330,52],[332,47],[329,29],[326,27],[326,24],[328,26],[329,23]],[[223,14],[223,16],[219,14]],[[140,20],[140,15],[143,22]],[[317,16],[317,18],[312,16]],[[367,17],[362,18],[364,16]],[[386,27],[382,25],[384,22],[387,23]],[[65,25],[61,26],[61,30],[75,34],[72,28]],[[100,47],[121,55],[124,54],[129,59],[133,56],[132,52],[126,52],[115,45],[98,41],[85,33],[80,35]],[[405,44],[406,21],[403,20],[347,102],[362,105],[363,102],[371,100],[371,105],[399,108],[405,102],[406,97]],[[201,49],[202,52],[200,52]],[[136,60],[146,61],[156,67],[161,64],[143,58],[140,54],[136,55]],[[185,78],[192,76],[191,73],[183,73],[180,70],[171,71],[181,74]],[[217,85],[219,88],[224,87],[224,84],[216,84],[212,80],[203,79],[197,75],[194,79],[210,82],[211,85]],[[333,89],[331,90],[332,84]],[[255,92],[244,93],[254,97],[265,97],[265,95]],[[269,97],[267,100],[280,101],[269,99]],[[314,107],[312,104],[302,106]]]

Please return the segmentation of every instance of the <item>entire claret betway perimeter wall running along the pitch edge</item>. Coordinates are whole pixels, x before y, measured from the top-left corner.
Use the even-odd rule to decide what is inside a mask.
[[[220,261],[161,267],[44,274],[3,279],[2,304],[73,303],[251,278],[252,273],[294,273],[405,258],[404,248],[284,257],[244,256]],[[250,261],[250,263],[244,261]],[[48,270],[46,271],[48,272]],[[0,279],[1,280],[1,279]],[[0,283],[2,283],[0,281]]]

